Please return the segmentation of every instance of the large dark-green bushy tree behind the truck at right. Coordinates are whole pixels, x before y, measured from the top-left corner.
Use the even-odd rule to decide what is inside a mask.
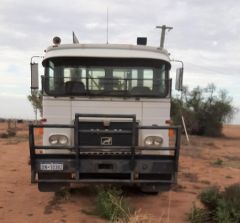
[[[227,92],[217,92],[213,84],[192,91],[185,88],[182,100],[173,98],[171,101],[171,117],[174,124],[181,124],[183,114],[191,134],[220,136],[223,123],[230,120],[236,110],[231,103]]]

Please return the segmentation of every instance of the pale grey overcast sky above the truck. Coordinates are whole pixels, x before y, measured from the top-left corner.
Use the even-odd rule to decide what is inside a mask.
[[[239,0],[0,0],[0,117],[34,117],[27,100],[31,57],[44,55],[54,36],[71,43],[72,31],[81,43],[106,43],[107,9],[109,43],[146,36],[159,46],[155,27],[172,26],[165,48],[184,62],[184,85],[214,83],[240,108]],[[240,124],[239,113],[232,122]]]

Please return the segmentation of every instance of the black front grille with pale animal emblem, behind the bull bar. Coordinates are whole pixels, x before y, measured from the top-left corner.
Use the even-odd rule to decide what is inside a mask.
[[[78,125],[80,146],[132,146],[132,122],[79,121]]]

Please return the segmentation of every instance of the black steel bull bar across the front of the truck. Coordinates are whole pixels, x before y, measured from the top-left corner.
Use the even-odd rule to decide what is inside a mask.
[[[82,129],[80,128],[79,120],[87,120],[86,118],[93,118],[95,121],[99,118],[114,118],[114,119],[130,119],[131,120],[131,129],[123,129],[122,132],[109,130],[105,131],[103,129]],[[89,121],[89,120],[87,120]],[[99,120],[97,120],[99,121]],[[101,120],[102,121],[102,120]],[[74,144],[72,146],[38,146],[35,145],[34,129],[36,128],[71,128],[74,131]],[[173,156],[168,155],[144,155],[141,154],[141,151],[147,150],[148,148],[144,146],[138,146],[137,136],[138,132],[141,130],[169,130],[172,129],[175,131],[175,143],[173,147],[154,147],[150,150],[153,151],[173,151]],[[115,146],[115,145],[81,145],[81,134],[91,134],[91,135],[131,135],[131,144],[128,146]],[[29,125],[29,148],[30,148],[30,159],[31,159],[31,182],[49,182],[49,183],[172,183],[172,179],[151,179],[151,173],[147,172],[150,178],[136,178],[136,172],[139,172],[140,165],[145,165],[144,163],[150,162],[151,165],[158,163],[159,168],[168,168],[172,167],[171,174],[175,174],[178,171],[178,160],[179,160],[179,149],[180,149],[180,137],[181,137],[181,128],[179,126],[139,126],[136,121],[136,115],[109,115],[109,114],[75,114],[74,124],[73,125],[61,125],[61,124],[45,124],[45,125]],[[69,150],[68,154],[49,154],[49,153],[36,153],[37,149],[67,149]],[[48,163],[63,163],[63,170],[46,170],[43,171],[40,169],[41,162]],[[84,165],[91,163],[92,165],[107,166],[112,167],[113,169],[105,170],[99,169],[96,172],[95,169],[87,168]],[[110,163],[110,164],[109,164]],[[128,164],[129,163],[129,164]],[[112,166],[111,166],[112,165]],[[115,165],[119,167],[116,173],[114,172]],[[126,167],[129,165],[129,168]],[[121,169],[122,168],[122,169]],[[88,172],[89,171],[89,172]],[[169,170],[170,171],[170,170]],[[166,171],[166,172],[169,172]],[[37,178],[38,173],[71,173],[73,177],[70,179],[62,178],[46,178],[39,179]],[[89,174],[89,175],[88,175]],[[112,174],[112,175],[111,175]],[[118,179],[114,178],[114,175],[118,176],[123,174],[124,177]],[[162,175],[164,176],[164,171]],[[86,175],[88,176],[86,178]],[[109,179],[108,176],[111,175]],[[105,177],[107,176],[107,177]],[[126,177],[125,177],[126,176]],[[161,174],[159,174],[161,176]]]

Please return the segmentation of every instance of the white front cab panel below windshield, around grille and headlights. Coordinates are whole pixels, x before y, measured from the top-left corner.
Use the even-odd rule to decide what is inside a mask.
[[[169,99],[90,99],[90,98],[51,98],[43,100],[43,117],[47,124],[73,124],[76,113],[88,114],[136,114],[140,125],[165,125],[170,118]],[[92,118],[88,118],[92,119]],[[103,118],[101,118],[103,120]],[[116,120],[111,118],[111,120]],[[121,119],[118,119],[121,120]],[[73,144],[73,132],[70,129],[45,129],[44,145],[49,145],[48,138],[51,134],[65,134]],[[168,131],[166,130],[141,130],[139,132],[139,145],[144,145],[144,138],[150,135],[162,136],[163,146],[168,146]]]

